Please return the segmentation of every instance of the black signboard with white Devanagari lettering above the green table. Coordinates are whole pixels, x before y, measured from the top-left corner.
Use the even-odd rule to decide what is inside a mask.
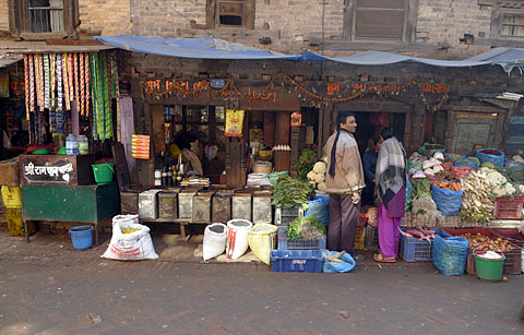
[[[93,155],[22,155],[21,184],[90,184],[94,183]]]

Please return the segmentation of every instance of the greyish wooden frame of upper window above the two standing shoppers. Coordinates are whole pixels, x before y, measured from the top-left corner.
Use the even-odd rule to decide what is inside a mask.
[[[358,0],[346,0],[344,33],[343,38],[350,41],[383,41],[383,43],[405,43],[415,40],[417,25],[418,0],[404,0],[404,27],[402,38],[389,37],[357,37],[357,2]]]

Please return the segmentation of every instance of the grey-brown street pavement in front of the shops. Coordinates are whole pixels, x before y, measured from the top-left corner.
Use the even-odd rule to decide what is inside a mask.
[[[430,264],[372,261],[349,274],[203,264],[176,236],[156,261],[100,259],[68,236],[0,232],[1,334],[523,334],[524,276],[486,284]],[[198,250],[196,250],[198,253]]]

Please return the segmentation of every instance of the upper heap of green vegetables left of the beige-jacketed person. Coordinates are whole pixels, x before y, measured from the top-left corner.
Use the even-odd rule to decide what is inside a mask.
[[[277,207],[290,208],[297,205],[309,208],[308,202],[314,196],[313,187],[291,177],[281,177],[271,195],[272,203]]]

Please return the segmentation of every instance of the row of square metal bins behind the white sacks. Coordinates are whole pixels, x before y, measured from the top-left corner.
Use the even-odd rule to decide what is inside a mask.
[[[136,194],[136,193],[135,193]],[[243,218],[252,223],[273,222],[270,191],[199,191],[194,189],[148,190],[138,193],[136,208],[131,194],[121,194],[122,214],[135,211],[142,220],[227,223]],[[126,202],[126,204],[124,204]],[[129,213],[132,214],[132,213]]]

